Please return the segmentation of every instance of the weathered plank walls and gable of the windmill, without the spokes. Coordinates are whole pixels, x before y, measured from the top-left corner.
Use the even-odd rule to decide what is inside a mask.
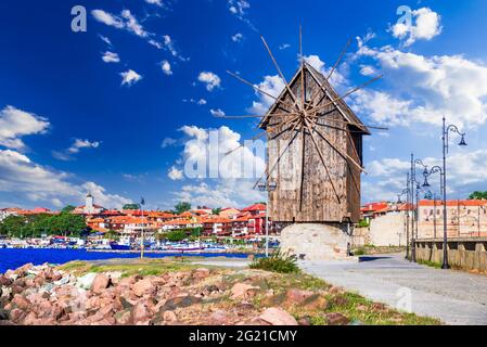
[[[293,94],[299,99],[298,102],[303,99],[303,82],[306,102],[316,100],[320,105],[324,105],[338,99],[338,94],[324,76],[306,63],[290,82]],[[283,115],[290,108],[286,104],[293,103],[290,93],[284,90],[279,100],[260,124],[268,132],[268,171],[271,171],[269,181],[277,183],[277,190],[269,194],[270,217],[282,222],[358,222],[361,169],[345,159],[343,154],[346,153],[356,162],[362,163],[362,136],[369,133],[367,128],[342,100],[321,111],[320,114],[324,116],[318,118],[318,124],[328,127],[317,125],[317,130],[312,133],[323,155],[329,176],[309,131],[304,136],[303,156],[300,129],[293,129],[290,124],[273,126],[291,117]],[[294,141],[287,147],[293,138]],[[278,162],[282,153],[285,154]],[[274,165],[275,168],[271,170]]]

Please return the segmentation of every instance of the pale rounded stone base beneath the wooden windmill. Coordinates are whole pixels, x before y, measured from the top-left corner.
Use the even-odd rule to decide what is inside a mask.
[[[281,252],[303,260],[345,260],[349,242],[344,224],[299,223],[281,232]]]

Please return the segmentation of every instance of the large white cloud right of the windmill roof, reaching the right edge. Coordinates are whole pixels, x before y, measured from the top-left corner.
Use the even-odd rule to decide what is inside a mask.
[[[359,42],[356,59],[361,57],[377,63],[390,88],[387,93],[357,93],[359,104],[363,98],[376,104],[376,98],[393,101],[390,108],[400,111],[393,118],[396,124],[421,121],[438,126],[444,115],[462,127],[476,127],[487,120],[487,66],[483,63],[461,55],[423,56],[389,46],[375,49]]]

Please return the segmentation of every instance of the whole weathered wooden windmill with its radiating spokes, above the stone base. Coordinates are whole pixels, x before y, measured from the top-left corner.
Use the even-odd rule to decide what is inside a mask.
[[[370,134],[370,130],[344,99],[382,76],[338,95],[330,78],[350,40],[325,77],[303,59],[299,30],[300,66],[287,82],[269,46],[264,37],[261,39],[285,88],[279,97],[271,95],[228,72],[273,99],[274,104],[262,116],[225,117],[262,117],[259,128],[265,132],[256,138],[267,137],[268,163],[256,185],[259,182],[277,183],[277,189],[269,192],[270,217],[280,222],[358,222],[360,176],[363,172],[362,137]]]

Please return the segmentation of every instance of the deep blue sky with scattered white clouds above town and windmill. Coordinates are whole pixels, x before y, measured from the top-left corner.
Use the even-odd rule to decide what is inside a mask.
[[[76,4],[87,9],[87,33],[71,30]],[[400,5],[413,10],[412,27],[397,25]],[[0,206],[57,208],[87,191],[106,207],[141,195],[151,208],[261,200],[248,181],[181,170],[188,141],[204,147],[205,130],[219,129],[226,145],[258,133],[254,120],[212,116],[269,102],[226,69],[278,93],[259,35],[291,78],[299,24],[304,53],[323,72],[354,39],[334,75],[338,90],[385,75],[347,100],[366,124],[390,129],[366,140],[364,202],[395,197],[411,151],[437,164],[443,114],[470,144],[451,149],[450,197],[486,190],[486,13],[482,0],[2,1]],[[132,79],[123,83],[123,73]]]

